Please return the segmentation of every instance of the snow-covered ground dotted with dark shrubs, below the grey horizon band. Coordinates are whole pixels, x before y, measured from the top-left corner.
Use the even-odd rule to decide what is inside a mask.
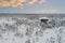
[[[43,20],[44,22],[44,20]],[[65,43],[65,18],[0,17],[0,43]]]

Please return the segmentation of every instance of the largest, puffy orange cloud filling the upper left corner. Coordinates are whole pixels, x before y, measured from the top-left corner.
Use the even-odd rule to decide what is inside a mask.
[[[17,6],[22,6],[23,8],[23,2],[25,2],[26,0],[10,0],[10,1],[5,1],[5,0],[0,0],[0,6],[13,6],[13,8],[17,8]]]

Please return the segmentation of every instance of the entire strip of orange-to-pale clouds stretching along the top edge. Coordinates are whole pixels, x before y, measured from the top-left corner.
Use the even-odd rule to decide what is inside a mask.
[[[35,4],[35,2],[38,2],[38,1],[39,1],[39,3],[44,3],[46,2],[46,0],[30,0],[30,1],[28,1],[28,0],[10,0],[10,1],[0,0],[0,6],[24,8],[23,3],[31,5],[31,4]]]

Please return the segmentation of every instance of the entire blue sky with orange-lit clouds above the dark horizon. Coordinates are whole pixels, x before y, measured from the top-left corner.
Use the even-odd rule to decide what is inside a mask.
[[[65,13],[65,0],[0,0],[0,13]]]

